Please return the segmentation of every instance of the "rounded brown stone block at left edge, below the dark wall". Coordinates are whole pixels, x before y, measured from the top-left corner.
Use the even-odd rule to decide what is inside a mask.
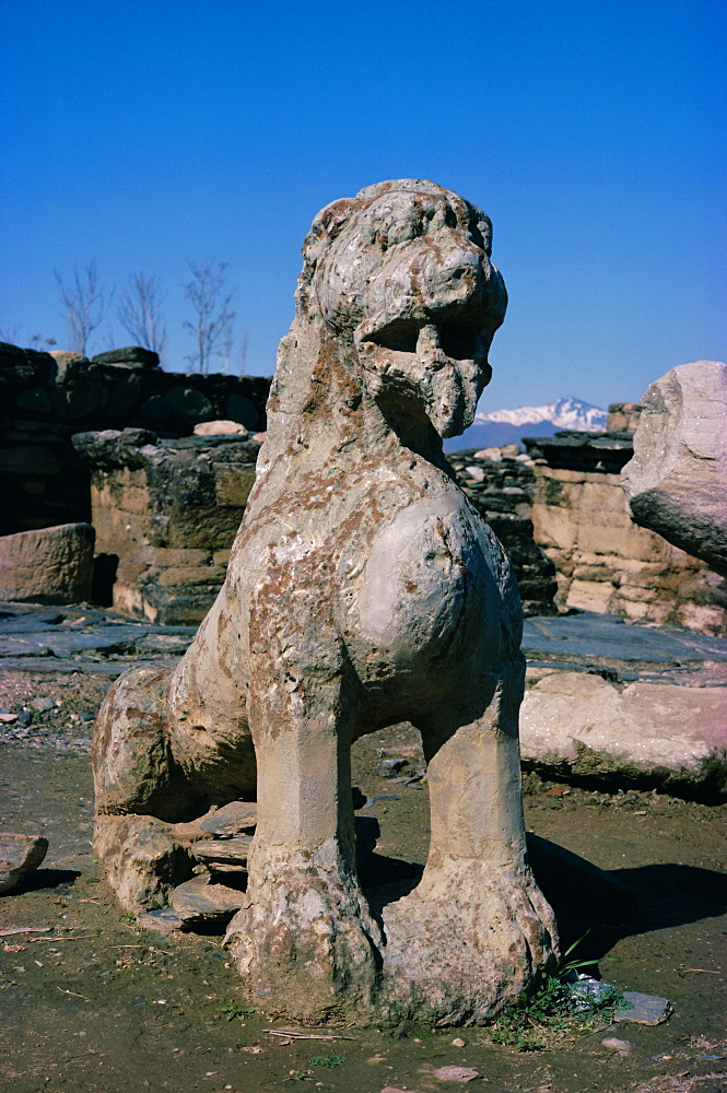
[[[95,532],[62,524],[0,538],[0,599],[79,603],[91,596]]]

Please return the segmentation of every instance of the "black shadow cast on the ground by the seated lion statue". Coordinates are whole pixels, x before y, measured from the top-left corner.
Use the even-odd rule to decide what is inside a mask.
[[[532,872],[555,914],[563,953],[602,960],[618,941],[716,918],[727,910],[727,874],[699,866],[654,863],[603,870],[549,839],[528,833]],[[408,895],[423,866],[365,847],[359,861],[364,894],[376,916]],[[597,965],[588,974],[598,976]]]

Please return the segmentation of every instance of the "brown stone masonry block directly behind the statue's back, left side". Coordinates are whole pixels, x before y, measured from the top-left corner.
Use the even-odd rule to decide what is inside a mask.
[[[224,580],[259,440],[80,433],[96,530],[94,598],[152,622],[200,622]]]

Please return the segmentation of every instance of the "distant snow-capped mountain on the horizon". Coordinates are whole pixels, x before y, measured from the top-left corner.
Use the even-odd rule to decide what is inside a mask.
[[[518,407],[516,410],[493,410],[474,414],[474,422],[461,436],[444,442],[446,451],[460,448],[489,448],[501,444],[519,444],[523,436],[553,436],[561,428],[587,433],[606,431],[606,410],[573,397],[558,399],[544,407]]]

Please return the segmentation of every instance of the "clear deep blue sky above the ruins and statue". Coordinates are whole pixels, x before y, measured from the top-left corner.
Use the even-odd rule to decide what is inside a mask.
[[[95,259],[117,298],[162,281],[181,369],[213,257],[269,374],[314,214],[422,177],[494,223],[483,409],[636,400],[727,355],[726,27],[723,0],[2,0],[0,331],[62,348],[54,270]]]

